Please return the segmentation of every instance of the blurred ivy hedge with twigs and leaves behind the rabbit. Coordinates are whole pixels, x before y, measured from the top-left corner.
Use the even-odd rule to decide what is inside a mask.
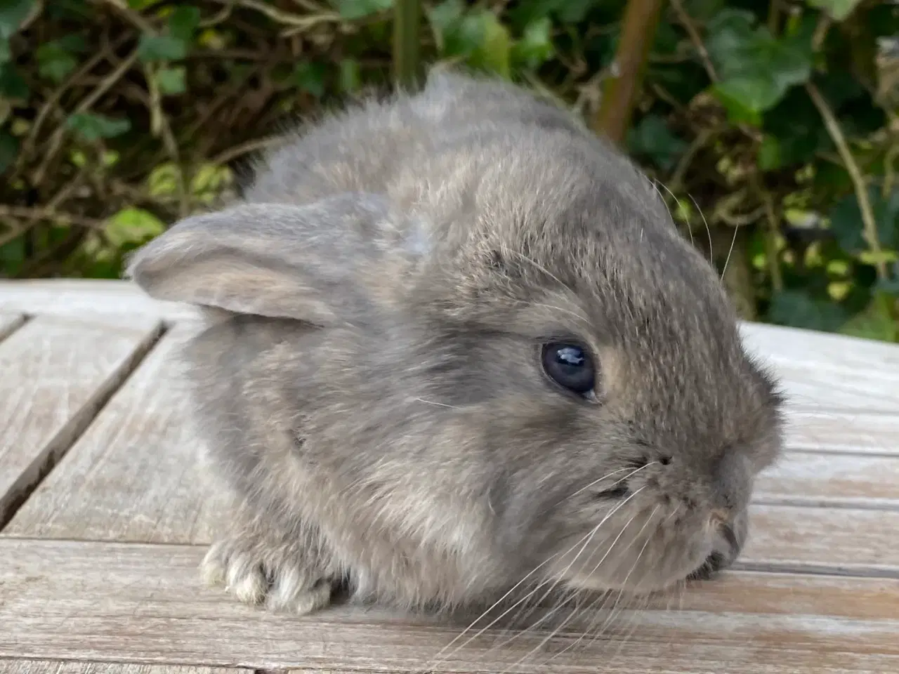
[[[0,278],[118,278],[439,61],[618,143],[744,318],[899,341],[896,0],[0,0]]]

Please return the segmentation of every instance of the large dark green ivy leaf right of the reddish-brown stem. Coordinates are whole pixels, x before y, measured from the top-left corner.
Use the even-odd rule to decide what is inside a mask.
[[[812,47],[806,31],[776,40],[755,17],[725,10],[708,23],[706,48],[720,78],[712,92],[733,120],[761,122],[790,87],[812,74]]]

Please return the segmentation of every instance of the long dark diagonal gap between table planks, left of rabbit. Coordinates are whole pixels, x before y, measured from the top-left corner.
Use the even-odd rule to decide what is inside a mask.
[[[20,324],[17,330],[21,330],[23,324]],[[112,396],[122,386],[125,386],[129,378],[140,364],[147,359],[147,356],[167,332],[165,324],[160,323],[156,331],[146,341],[139,344],[138,348],[129,355],[129,358],[126,359],[120,369],[117,372],[113,372],[109,379],[103,383],[93,401],[85,404],[81,410],[69,419],[65,426],[59,430],[56,437],[51,439],[47,446],[40,451],[40,454],[34,458],[31,466],[22,471],[22,474],[10,485],[9,490],[4,494],[0,494],[0,531],[3,531],[6,525],[13,519],[15,513],[22,508],[25,501],[28,501],[34,490],[40,486],[44,478],[66,456],[69,448],[72,448],[78,439],[84,435],[85,431],[93,423],[93,420],[99,416],[106,404],[110,402]]]

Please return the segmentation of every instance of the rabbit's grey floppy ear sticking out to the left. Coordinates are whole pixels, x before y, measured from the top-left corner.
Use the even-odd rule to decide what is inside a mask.
[[[126,275],[158,299],[344,322],[358,308],[353,277],[372,254],[366,239],[386,217],[380,201],[353,194],[227,208],[176,223],[133,254]]]

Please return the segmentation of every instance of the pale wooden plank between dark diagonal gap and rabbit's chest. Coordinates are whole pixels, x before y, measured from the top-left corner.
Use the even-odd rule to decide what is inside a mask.
[[[173,358],[194,333],[177,325],[31,494],[6,536],[207,543],[223,492],[208,489],[201,441]]]

